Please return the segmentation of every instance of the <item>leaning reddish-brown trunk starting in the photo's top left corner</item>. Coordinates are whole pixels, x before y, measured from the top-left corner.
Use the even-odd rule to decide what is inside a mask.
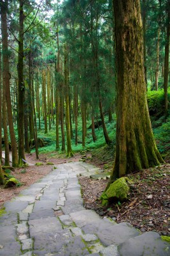
[[[15,132],[13,127],[13,115],[12,115],[12,104],[11,104],[11,93],[10,93],[10,68],[8,59],[8,29],[7,29],[7,13],[8,0],[1,4],[1,31],[2,31],[2,42],[3,42],[3,88],[6,95],[6,106],[8,113],[8,125],[10,129],[11,138],[11,151],[12,151],[12,166],[18,166],[18,154],[17,154],[17,141],[15,140]]]

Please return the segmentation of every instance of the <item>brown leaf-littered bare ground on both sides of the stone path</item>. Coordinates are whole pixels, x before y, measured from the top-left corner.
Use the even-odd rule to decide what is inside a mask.
[[[71,159],[56,153],[41,154],[36,160],[35,154],[26,154],[26,161],[31,164],[43,163],[41,166],[28,166],[26,172],[23,168],[16,168],[12,172],[22,186],[16,188],[3,188],[0,186],[0,209],[4,202],[17,196],[22,189],[27,188],[52,170],[53,164],[79,161],[80,154],[75,154]],[[89,160],[90,161],[90,160]],[[90,163],[93,163],[90,161]],[[95,163],[103,167],[100,161]],[[107,170],[108,172],[108,170]],[[101,218],[110,217],[117,223],[127,221],[141,232],[157,231],[164,236],[170,236],[170,164],[157,168],[150,168],[142,172],[129,175],[134,182],[134,187],[126,202],[112,202],[108,207],[101,207],[99,197],[106,188],[108,180],[94,180],[80,177],[79,181],[83,192],[84,206],[93,209]]]

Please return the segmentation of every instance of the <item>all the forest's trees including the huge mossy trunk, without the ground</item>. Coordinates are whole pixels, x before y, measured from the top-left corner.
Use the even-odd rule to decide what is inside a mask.
[[[52,125],[55,150],[67,149],[69,157],[73,144],[87,146],[87,120],[94,143],[101,122],[110,146],[106,116],[110,123],[116,108],[112,179],[163,161],[153,139],[146,91],[164,90],[167,116],[170,0],[4,0],[0,7],[5,165],[9,141],[14,167],[22,165],[31,143],[38,158],[39,131],[48,134]]]

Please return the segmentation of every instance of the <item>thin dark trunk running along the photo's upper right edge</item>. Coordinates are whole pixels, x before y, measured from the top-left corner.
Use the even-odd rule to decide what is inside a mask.
[[[166,47],[165,47],[165,60],[164,60],[164,100],[165,100],[166,114],[167,114],[167,86],[168,86],[168,72],[169,72],[169,33],[170,33],[170,0],[167,0]]]

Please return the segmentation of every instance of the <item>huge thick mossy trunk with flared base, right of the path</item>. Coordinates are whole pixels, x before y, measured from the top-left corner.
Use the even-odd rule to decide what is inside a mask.
[[[111,182],[163,163],[148,113],[139,0],[113,0],[117,58],[117,145]]]

